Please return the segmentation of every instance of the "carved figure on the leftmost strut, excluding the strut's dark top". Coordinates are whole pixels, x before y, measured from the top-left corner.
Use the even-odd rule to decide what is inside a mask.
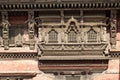
[[[2,22],[3,26],[3,44],[4,44],[4,49],[8,50],[9,49],[9,22],[7,20],[4,20]]]

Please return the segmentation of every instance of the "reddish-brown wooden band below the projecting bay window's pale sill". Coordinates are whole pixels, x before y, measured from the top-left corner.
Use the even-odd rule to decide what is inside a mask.
[[[40,70],[106,70],[108,68],[108,65],[101,65],[101,66],[97,66],[97,65],[94,65],[94,66],[42,66],[42,65],[39,65],[39,68]]]

